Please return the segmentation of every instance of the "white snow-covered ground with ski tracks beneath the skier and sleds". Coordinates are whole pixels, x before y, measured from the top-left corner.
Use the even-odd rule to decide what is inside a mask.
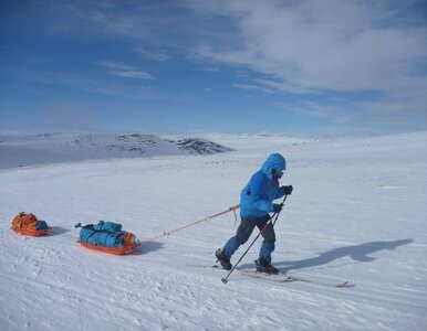
[[[427,330],[427,132],[217,138],[240,148],[0,171],[0,329]],[[239,271],[222,284],[227,273],[200,266],[235,233],[232,213],[128,256],[75,243],[79,222],[117,221],[144,239],[226,210],[275,151],[287,157],[282,183],[294,192],[277,223],[273,263],[283,274],[354,287]],[[14,234],[21,211],[45,220],[52,235]],[[241,268],[253,268],[259,244]]]

